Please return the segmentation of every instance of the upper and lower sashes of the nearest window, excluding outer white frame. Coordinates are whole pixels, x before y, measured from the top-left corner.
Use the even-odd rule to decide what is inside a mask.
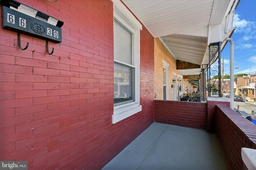
[[[134,33],[114,19],[114,106],[134,102]]]

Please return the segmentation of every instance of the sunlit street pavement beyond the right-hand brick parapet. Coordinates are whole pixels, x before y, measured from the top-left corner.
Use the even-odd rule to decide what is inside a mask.
[[[234,102],[234,111],[237,111],[238,106],[239,106],[239,112],[244,117],[247,117],[248,113],[252,113],[252,110],[256,112],[256,105],[250,104],[250,102]]]

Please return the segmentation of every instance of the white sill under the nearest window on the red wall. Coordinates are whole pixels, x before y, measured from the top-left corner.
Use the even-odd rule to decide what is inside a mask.
[[[131,115],[134,115],[142,110],[142,106],[138,103],[132,102],[121,106],[114,107],[114,115],[112,115],[112,124],[117,123]]]

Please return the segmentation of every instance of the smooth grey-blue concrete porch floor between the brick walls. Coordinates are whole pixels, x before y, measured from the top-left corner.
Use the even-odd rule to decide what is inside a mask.
[[[226,170],[216,135],[152,123],[102,170]]]

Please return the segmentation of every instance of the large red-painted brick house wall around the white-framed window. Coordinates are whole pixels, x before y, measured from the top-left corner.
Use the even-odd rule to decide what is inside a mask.
[[[101,169],[153,122],[154,38],[140,35],[142,111],[112,124],[113,2],[18,0],[64,21],[62,43],[0,28],[0,160]],[[1,22],[1,21],[0,21]],[[2,25],[2,23],[0,23]]]

